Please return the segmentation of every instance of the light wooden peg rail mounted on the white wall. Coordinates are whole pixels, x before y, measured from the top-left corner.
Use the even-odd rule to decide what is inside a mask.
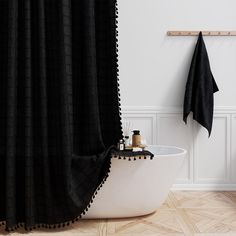
[[[167,31],[168,36],[196,36],[200,31]],[[204,36],[236,36],[236,31],[202,31]]]

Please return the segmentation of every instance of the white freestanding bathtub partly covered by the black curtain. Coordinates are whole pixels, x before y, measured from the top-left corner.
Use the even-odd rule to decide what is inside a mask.
[[[153,160],[112,158],[110,175],[84,219],[134,217],[157,210],[183,165],[186,150],[154,145],[146,149],[154,154]]]

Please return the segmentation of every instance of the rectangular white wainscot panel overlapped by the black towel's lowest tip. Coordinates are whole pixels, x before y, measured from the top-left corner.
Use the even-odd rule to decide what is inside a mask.
[[[194,182],[222,184],[230,181],[229,115],[216,114],[210,138],[205,128],[195,123]]]

